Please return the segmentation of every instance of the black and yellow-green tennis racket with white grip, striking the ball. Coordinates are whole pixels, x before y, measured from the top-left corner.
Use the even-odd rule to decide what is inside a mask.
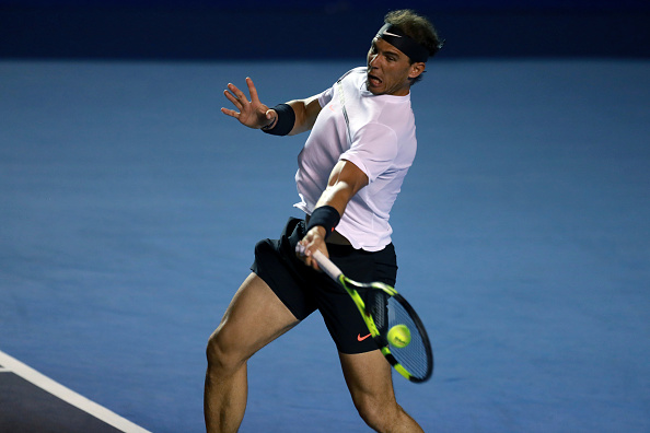
[[[350,280],[318,250],[312,257],[355,301],[372,338],[395,371],[410,382],[428,381],[433,373],[431,343],[422,321],[404,296],[382,282]]]

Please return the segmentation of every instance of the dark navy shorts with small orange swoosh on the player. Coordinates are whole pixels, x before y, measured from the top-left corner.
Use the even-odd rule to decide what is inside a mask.
[[[368,327],[345,289],[295,257],[295,245],[304,234],[304,221],[289,219],[279,239],[257,243],[251,270],[271,288],[299,320],[318,309],[339,352],[352,354],[378,349],[368,337]],[[397,258],[393,244],[376,253],[334,244],[327,244],[327,250],[346,277],[395,285]]]

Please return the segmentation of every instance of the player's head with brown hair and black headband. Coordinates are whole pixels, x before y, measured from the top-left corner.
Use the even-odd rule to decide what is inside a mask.
[[[384,22],[368,52],[368,90],[403,96],[442,44],[429,20],[410,10],[390,12]]]

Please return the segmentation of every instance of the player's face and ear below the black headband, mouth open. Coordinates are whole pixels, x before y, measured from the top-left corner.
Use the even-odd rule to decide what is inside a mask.
[[[421,70],[420,70],[421,69]],[[368,90],[375,95],[408,95],[409,78],[425,69],[425,63],[410,65],[408,56],[381,38],[374,38],[368,51]]]

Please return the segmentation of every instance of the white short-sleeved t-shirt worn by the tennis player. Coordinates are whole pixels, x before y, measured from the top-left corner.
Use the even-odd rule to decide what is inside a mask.
[[[365,87],[365,72],[352,69],[318,95],[323,108],[298,156],[301,201],[294,206],[311,214],[336,163],[353,163],[369,184],[352,197],[336,231],[355,248],[378,251],[391,243],[391,209],[417,141],[410,94],[375,96]]]

